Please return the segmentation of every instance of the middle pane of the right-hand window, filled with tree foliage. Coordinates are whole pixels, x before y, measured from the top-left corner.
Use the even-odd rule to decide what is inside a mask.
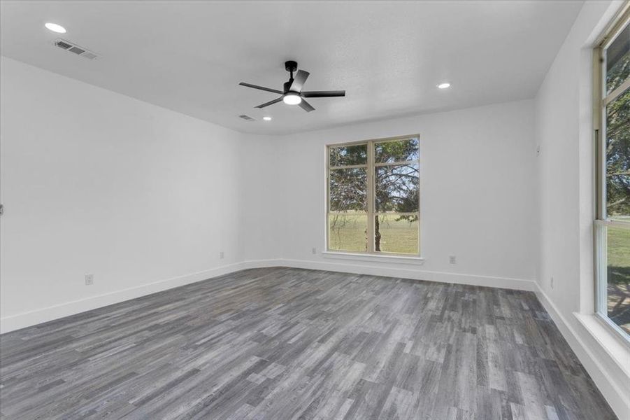
[[[606,213],[630,218],[630,89],[606,107]]]

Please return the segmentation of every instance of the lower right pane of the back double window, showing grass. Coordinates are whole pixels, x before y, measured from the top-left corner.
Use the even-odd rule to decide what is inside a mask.
[[[375,216],[374,250],[393,253],[418,253],[418,216]]]

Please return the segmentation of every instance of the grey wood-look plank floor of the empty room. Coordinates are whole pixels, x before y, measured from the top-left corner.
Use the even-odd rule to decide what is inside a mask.
[[[613,420],[533,293],[250,269],[0,336],[0,419]]]

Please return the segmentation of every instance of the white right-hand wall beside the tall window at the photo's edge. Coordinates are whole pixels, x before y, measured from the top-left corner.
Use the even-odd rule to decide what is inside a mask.
[[[621,1],[585,3],[536,96],[536,142],[541,147],[535,171],[539,191],[536,248],[540,300],[611,407],[620,419],[627,419],[627,343],[606,335],[592,319],[592,47],[621,5]]]

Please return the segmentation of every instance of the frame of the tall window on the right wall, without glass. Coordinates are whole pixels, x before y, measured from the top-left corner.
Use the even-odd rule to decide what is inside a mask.
[[[594,262],[595,262],[595,314],[605,325],[630,342],[630,335],[608,318],[608,228],[622,228],[630,231],[630,223],[614,221],[606,214],[606,106],[630,87],[630,78],[613,92],[606,95],[606,48],[628,25],[630,7],[624,7],[599,38],[593,54],[594,87],[594,144],[595,144],[595,221],[594,221]]]

